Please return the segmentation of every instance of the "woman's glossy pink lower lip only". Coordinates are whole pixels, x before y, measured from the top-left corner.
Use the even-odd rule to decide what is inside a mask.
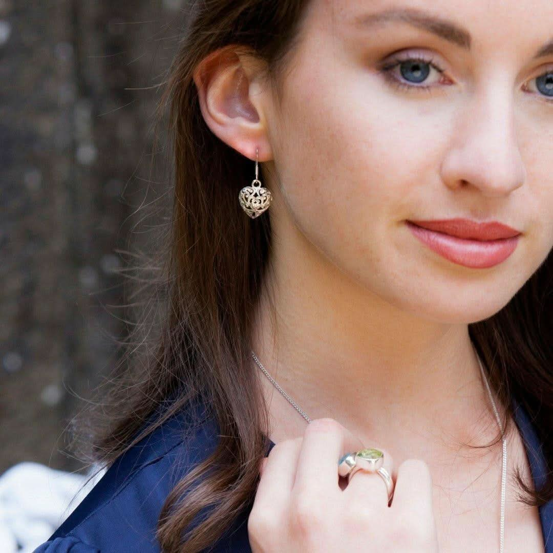
[[[493,267],[515,251],[519,236],[497,240],[458,238],[442,232],[430,231],[406,221],[409,230],[429,248],[458,265],[472,268]]]

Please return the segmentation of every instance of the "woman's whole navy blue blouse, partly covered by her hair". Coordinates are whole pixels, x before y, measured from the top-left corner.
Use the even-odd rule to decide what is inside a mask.
[[[536,486],[545,480],[546,464],[528,413],[516,401],[515,422],[526,447]],[[199,405],[201,407],[201,405]],[[203,414],[202,410],[200,414]],[[186,411],[164,422],[118,458],[50,539],[34,553],[160,553],[155,539],[159,513],[171,489],[215,448],[216,422],[201,418],[183,439]],[[274,443],[268,440],[268,452]],[[212,551],[251,553],[246,510],[226,530]],[[539,508],[545,553],[553,553],[553,501]]]

